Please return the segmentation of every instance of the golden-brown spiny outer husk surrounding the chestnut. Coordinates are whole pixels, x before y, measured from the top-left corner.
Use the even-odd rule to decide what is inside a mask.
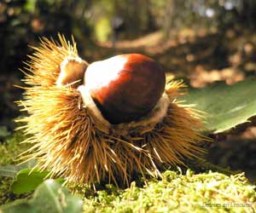
[[[60,64],[67,56],[78,57],[75,43],[44,38],[28,63],[24,101],[28,112],[22,128],[32,135],[25,142],[32,148],[23,158],[37,158],[37,167],[67,181],[94,183],[121,180],[129,184],[137,173],[160,176],[160,164],[183,164],[183,158],[197,158],[202,149],[201,119],[195,110],[178,103],[182,83],[166,84],[171,104],[166,117],[151,130],[116,131],[106,134],[97,119],[84,107],[77,89],[55,85]]]

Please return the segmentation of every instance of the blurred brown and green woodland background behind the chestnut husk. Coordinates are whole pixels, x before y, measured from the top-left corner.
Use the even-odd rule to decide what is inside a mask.
[[[19,68],[38,37],[73,35],[79,55],[89,62],[137,52],[158,60],[192,87],[231,84],[256,72],[255,11],[255,0],[1,0],[0,142],[15,129],[13,119],[20,112],[14,101],[22,98],[22,89],[14,85],[22,85]],[[247,143],[255,132],[251,127],[219,137],[227,142],[214,145],[215,158],[209,158],[255,171],[256,159],[247,159],[255,156],[255,143]],[[229,155],[231,146],[236,150]]]

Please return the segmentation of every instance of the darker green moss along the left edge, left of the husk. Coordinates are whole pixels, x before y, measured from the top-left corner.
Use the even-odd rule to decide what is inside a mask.
[[[27,144],[20,144],[26,137],[21,131],[17,131],[14,135],[9,136],[0,144],[0,165],[18,164],[18,155],[26,150]],[[13,182],[11,177],[0,176],[0,205],[6,204],[11,200],[23,198],[24,195],[15,195],[11,193],[9,188]]]

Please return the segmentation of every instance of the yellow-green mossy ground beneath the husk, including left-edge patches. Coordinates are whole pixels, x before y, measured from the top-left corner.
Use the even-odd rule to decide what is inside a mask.
[[[0,165],[17,164],[18,154],[27,147],[19,144],[23,139],[18,132],[0,145]],[[78,188],[84,197],[84,212],[254,212],[255,186],[244,174],[227,176],[221,172],[166,170],[161,180],[134,181],[126,189],[113,185],[96,192]],[[9,191],[12,181],[0,177],[0,204],[24,198]]]

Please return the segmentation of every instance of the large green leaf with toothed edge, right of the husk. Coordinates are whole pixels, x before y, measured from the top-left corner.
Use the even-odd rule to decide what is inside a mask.
[[[205,127],[208,132],[224,132],[256,115],[256,79],[231,86],[213,83],[204,89],[190,89],[185,100],[207,112]]]

